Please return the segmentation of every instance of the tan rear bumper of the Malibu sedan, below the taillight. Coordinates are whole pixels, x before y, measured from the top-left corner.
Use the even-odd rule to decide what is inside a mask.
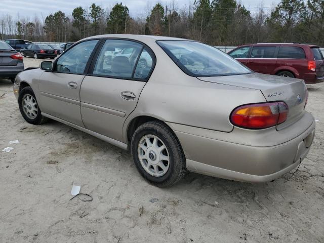
[[[184,131],[175,131],[186,156],[186,167],[189,171],[209,176],[246,182],[266,182],[291,171],[306,157],[315,134],[315,120],[306,113],[295,128],[287,128],[287,132],[297,131],[300,124],[308,124],[299,130],[293,139],[281,142],[276,136],[290,137],[285,129],[276,131],[270,140],[279,144],[262,146],[262,144],[235,143],[206,137],[206,132],[199,136]],[[170,126],[170,124],[169,124]],[[179,126],[176,126],[179,129]],[[172,124],[171,124],[172,128]],[[205,129],[204,129],[205,130]],[[197,130],[195,130],[197,131]],[[230,133],[228,133],[230,134]],[[262,136],[266,140],[268,137]],[[251,137],[253,137],[251,133]],[[274,139],[272,139],[274,138]],[[249,138],[247,138],[249,140]]]

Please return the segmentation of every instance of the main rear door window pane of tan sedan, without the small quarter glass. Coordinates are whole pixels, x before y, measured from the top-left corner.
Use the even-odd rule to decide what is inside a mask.
[[[107,39],[98,55],[93,74],[132,78],[142,49],[143,46],[137,42]]]

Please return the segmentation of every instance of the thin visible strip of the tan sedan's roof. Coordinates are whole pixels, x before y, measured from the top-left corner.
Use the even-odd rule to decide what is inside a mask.
[[[126,38],[126,39],[134,39],[135,41],[145,42],[151,41],[152,39],[156,41],[188,41],[188,39],[176,38],[176,37],[168,37],[168,36],[158,36],[158,35],[141,35],[141,34],[102,34],[95,35],[91,37],[84,38],[85,39],[95,39],[95,38]]]

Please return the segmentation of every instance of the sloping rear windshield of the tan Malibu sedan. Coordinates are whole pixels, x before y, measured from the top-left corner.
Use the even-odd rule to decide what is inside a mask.
[[[252,73],[222,51],[194,41],[158,41],[158,45],[190,76]]]

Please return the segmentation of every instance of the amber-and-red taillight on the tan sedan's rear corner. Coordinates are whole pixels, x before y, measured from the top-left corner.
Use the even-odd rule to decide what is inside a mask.
[[[285,102],[242,105],[233,110],[230,120],[235,126],[249,129],[270,128],[287,119]]]

